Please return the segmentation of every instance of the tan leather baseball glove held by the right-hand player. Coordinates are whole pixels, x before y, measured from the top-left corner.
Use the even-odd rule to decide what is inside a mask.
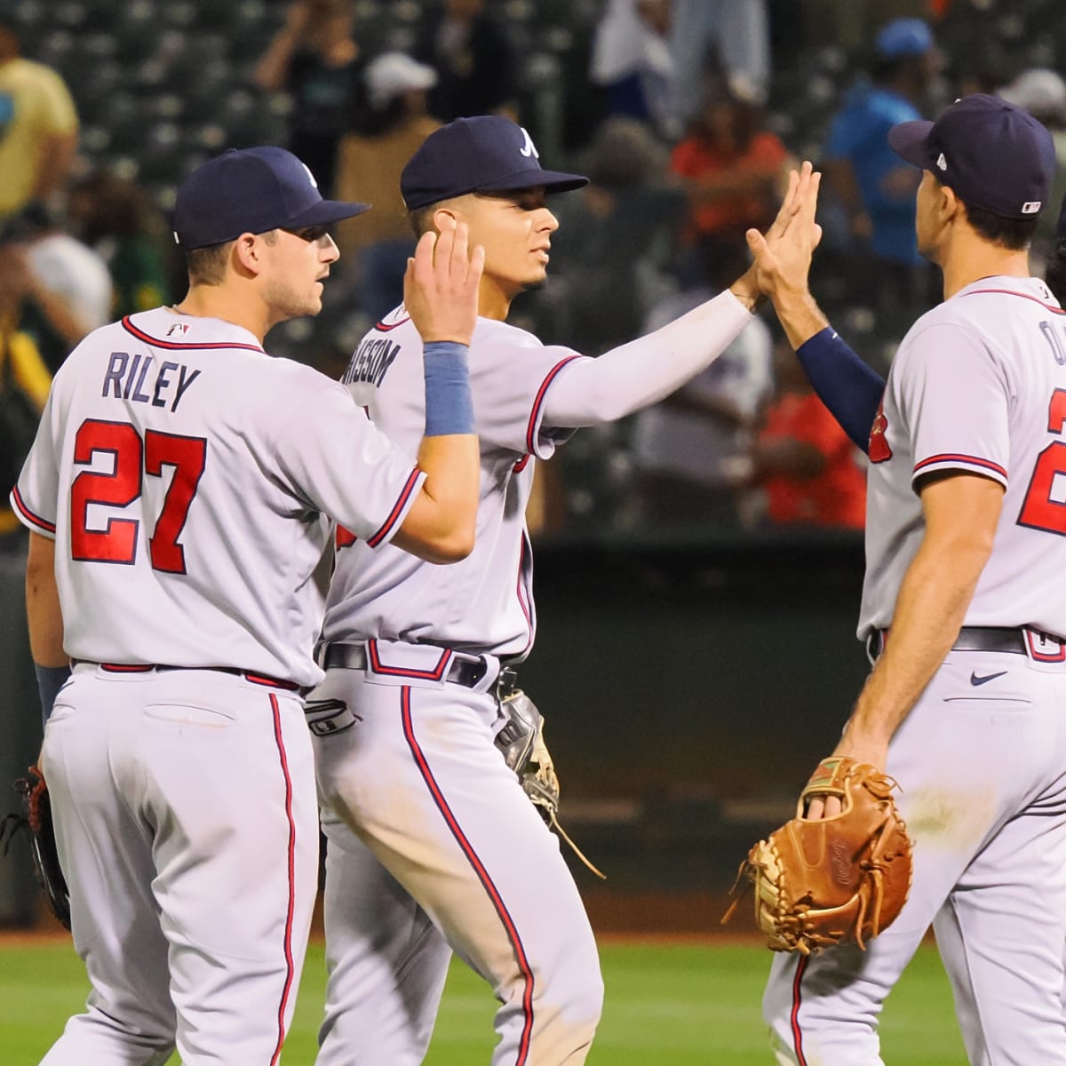
[[[870,763],[823,759],[796,817],[752,849],[733,890],[744,878],[755,886],[755,919],[771,949],[803,955],[835,944],[865,949],[895,920],[910,889],[911,842],[894,788]],[[840,813],[804,818],[812,796],[837,796]]]

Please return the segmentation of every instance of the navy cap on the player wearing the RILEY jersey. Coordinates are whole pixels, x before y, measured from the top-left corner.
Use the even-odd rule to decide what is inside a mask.
[[[285,148],[230,148],[194,171],[178,189],[174,239],[185,249],[206,248],[241,233],[339,222],[369,207],[323,199],[311,172]]]

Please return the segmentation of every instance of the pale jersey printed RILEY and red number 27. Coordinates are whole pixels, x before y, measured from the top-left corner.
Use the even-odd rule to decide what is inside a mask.
[[[387,544],[420,436],[397,448],[342,386],[217,319],[157,308],[90,334],[12,492],[55,537],[67,653],[316,683],[325,516]]]

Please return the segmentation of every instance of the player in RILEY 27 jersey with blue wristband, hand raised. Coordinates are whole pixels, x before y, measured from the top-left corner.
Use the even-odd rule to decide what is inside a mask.
[[[322,677],[326,516],[370,551],[470,550],[481,253],[463,226],[408,271],[426,402],[406,450],[262,348],[321,309],[326,227],[364,207],[323,200],[280,148],[206,163],[175,208],[188,295],[74,350],[12,491],[34,659],[46,682],[72,665],[42,768],[92,994],[49,1066],[175,1045],[187,1064],[277,1062],[317,888],[302,695]]]

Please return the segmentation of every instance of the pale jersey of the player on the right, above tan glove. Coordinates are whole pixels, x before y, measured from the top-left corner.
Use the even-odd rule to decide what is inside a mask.
[[[923,533],[915,481],[984,474],[1006,494],[966,626],[1066,635],[1066,312],[1037,278],[986,277],[922,316],[870,441],[859,636],[888,629]]]

